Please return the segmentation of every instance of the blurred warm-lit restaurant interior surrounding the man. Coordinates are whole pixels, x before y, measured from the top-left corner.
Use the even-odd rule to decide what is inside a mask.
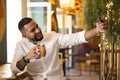
[[[95,28],[104,19],[108,30],[88,43],[59,49],[66,80],[120,80],[119,0],[0,0],[0,80],[29,80],[14,75],[10,65],[21,39],[18,21],[31,17],[43,33],[72,34]]]

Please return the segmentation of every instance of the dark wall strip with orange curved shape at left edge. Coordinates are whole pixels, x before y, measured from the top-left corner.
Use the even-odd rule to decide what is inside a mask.
[[[5,1],[0,0],[0,64],[7,62]]]

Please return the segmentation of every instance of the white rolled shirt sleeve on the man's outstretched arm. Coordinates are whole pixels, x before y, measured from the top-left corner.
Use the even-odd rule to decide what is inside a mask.
[[[61,46],[71,46],[87,42],[85,39],[85,31],[73,33],[73,34],[61,34],[59,35],[58,42]]]

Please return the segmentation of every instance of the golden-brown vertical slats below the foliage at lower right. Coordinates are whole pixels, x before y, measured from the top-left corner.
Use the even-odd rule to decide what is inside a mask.
[[[120,50],[101,51],[100,80],[119,80]]]

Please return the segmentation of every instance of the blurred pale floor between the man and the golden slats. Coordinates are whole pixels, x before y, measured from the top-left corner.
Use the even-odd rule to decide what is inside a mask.
[[[74,69],[66,71],[67,80],[99,80],[97,72],[81,72]]]

